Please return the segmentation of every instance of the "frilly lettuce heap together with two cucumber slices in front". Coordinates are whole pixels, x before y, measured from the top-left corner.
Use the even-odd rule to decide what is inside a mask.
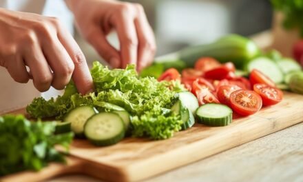
[[[96,141],[94,136],[98,134],[92,137],[90,134],[97,129],[99,134],[109,133],[107,136],[112,136],[109,139],[114,139],[109,143],[94,142],[98,145],[116,143],[117,137],[122,139],[125,134],[167,139],[181,130],[183,122],[180,115],[170,110],[178,100],[177,93],[185,90],[180,82],[139,78],[134,65],[128,65],[125,70],[109,70],[97,61],[94,62],[91,74],[95,93],[82,96],[70,83],[62,97],[49,101],[42,97],[36,98],[28,105],[27,112],[34,118],[56,117],[67,124],[71,123],[71,129],[77,136],[86,136],[92,141]],[[119,117],[114,117],[117,114]],[[98,123],[97,118],[111,118],[113,123]],[[120,118],[125,125],[121,126]],[[92,125],[97,129],[91,130],[94,128]],[[121,127],[120,131],[113,131],[116,125]],[[101,138],[100,141],[104,139]]]

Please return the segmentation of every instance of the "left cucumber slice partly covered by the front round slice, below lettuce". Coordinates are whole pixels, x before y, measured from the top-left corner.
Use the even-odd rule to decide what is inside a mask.
[[[67,113],[64,122],[70,122],[72,132],[77,136],[83,136],[85,122],[96,113],[98,111],[92,106],[79,106]]]

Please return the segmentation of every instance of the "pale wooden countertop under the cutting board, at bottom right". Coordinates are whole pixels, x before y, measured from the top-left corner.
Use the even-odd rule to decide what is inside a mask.
[[[263,32],[253,40],[267,48],[271,33]],[[303,181],[302,161],[303,123],[299,123],[145,181]],[[75,174],[49,181],[99,180]]]

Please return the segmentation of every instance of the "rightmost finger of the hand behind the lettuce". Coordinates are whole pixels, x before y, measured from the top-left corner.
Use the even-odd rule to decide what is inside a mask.
[[[154,33],[149,26],[142,6],[137,6],[138,17],[135,19],[138,34],[138,70],[150,65],[154,59],[156,43]]]

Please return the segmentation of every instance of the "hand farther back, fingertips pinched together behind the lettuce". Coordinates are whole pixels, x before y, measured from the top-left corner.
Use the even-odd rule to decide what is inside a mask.
[[[98,54],[114,68],[134,63],[137,70],[151,64],[156,51],[154,33],[143,6],[115,0],[65,0],[74,13],[76,26]],[[120,50],[106,39],[116,30]]]

